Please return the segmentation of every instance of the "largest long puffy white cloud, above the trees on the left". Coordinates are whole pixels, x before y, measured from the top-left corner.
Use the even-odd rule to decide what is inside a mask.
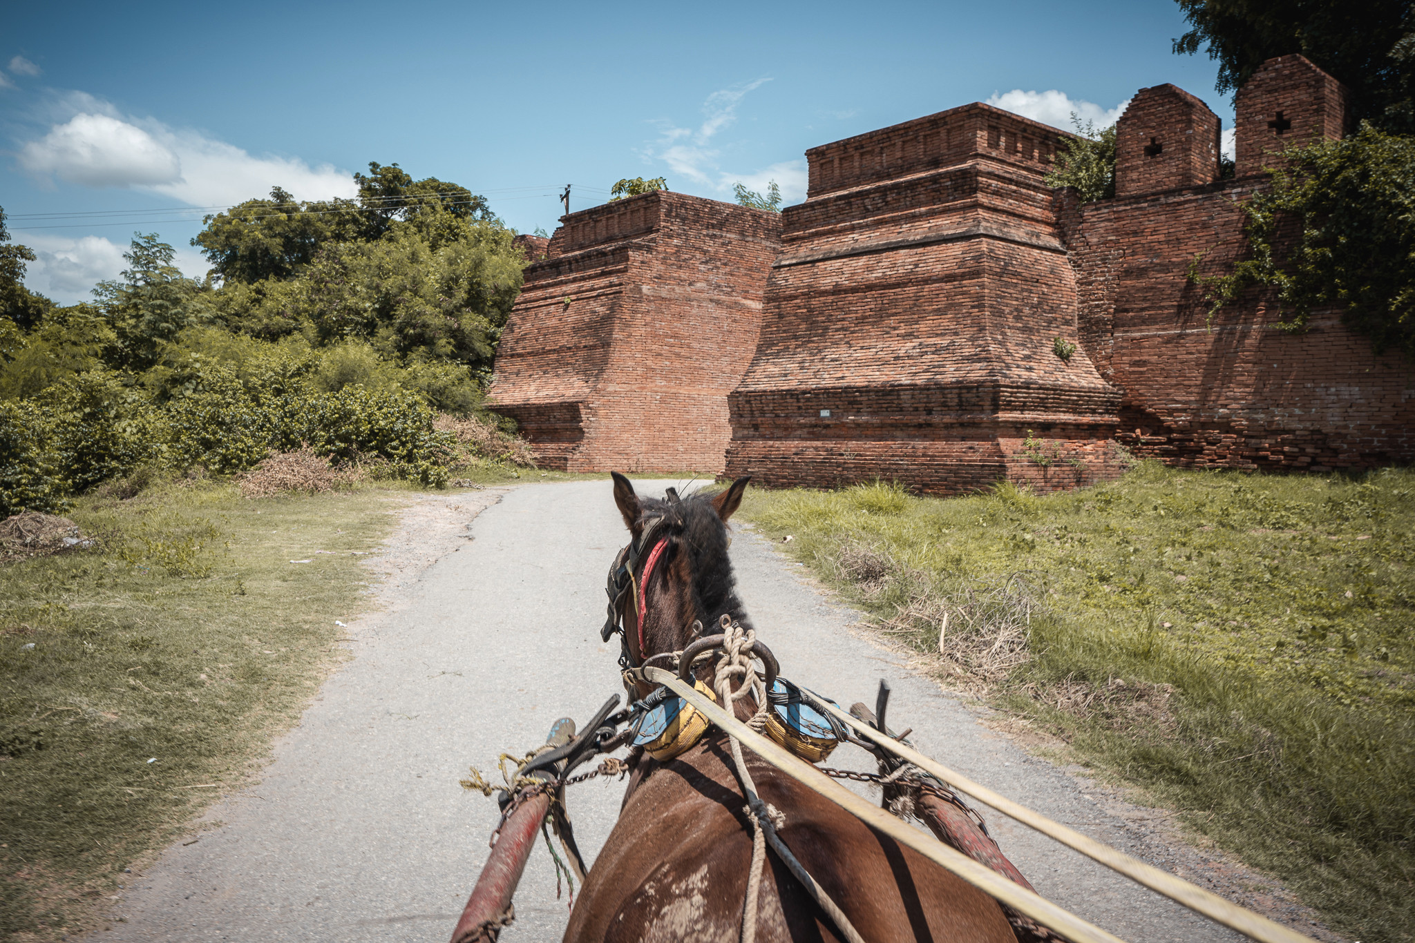
[[[225,206],[284,187],[300,199],[352,197],[352,177],[330,164],[253,157],[233,144],[154,120],[125,120],[92,96],[85,106],[20,148],[20,165],[41,180],[163,194],[192,206]]]

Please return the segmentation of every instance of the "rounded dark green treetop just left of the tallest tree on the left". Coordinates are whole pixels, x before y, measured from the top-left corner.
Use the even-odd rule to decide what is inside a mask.
[[[364,226],[351,199],[301,204],[279,187],[269,199],[248,199],[202,222],[191,245],[201,246],[224,281],[245,284],[290,279],[320,246],[354,239]]]

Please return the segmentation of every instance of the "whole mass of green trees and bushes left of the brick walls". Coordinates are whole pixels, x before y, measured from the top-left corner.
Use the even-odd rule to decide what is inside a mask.
[[[202,281],[139,233],[71,307],[24,288],[34,254],[3,245],[0,212],[0,516],[144,465],[233,474],[301,444],[444,482],[453,441],[433,420],[483,409],[526,263],[464,187],[376,163],[355,184],[208,216]]]

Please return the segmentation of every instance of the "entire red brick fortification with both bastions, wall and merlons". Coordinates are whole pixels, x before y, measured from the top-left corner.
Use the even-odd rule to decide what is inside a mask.
[[[491,399],[546,467],[700,469],[766,485],[876,476],[1039,491],[1138,455],[1201,468],[1415,459],[1415,373],[1337,311],[1274,329],[1249,290],[1210,318],[1189,277],[1247,252],[1235,205],[1293,144],[1347,133],[1299,55],[1237,96],[1237,174],[1197,98],[1140,89],[1116,197],[1044,177],[1065,134],[975,103],[807,153],[780,216],[657,192],[524,239]],[[1074,349],[1071,345],[1075,345]]]

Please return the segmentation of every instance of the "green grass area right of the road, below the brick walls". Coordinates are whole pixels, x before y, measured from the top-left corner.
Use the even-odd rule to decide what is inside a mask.
[[[744,513],[941,679],[1333,929],[1415,939],[1415,474],[1143,464],[1049,496],[758,491]]]

